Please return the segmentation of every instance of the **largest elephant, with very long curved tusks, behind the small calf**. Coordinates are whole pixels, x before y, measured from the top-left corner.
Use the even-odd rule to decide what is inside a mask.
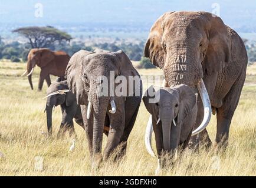
[[[164,86],[185,84],[200,93],[190,146],[200,141],[212,145],[205,129],[211,113],[217,116],[216,146],[227,146],[247,69],[247,52],[238,34],[208,12],[168,12],[152,26],[144,54],[163,69]],[[146,143],[152,150],[150,133]]]

